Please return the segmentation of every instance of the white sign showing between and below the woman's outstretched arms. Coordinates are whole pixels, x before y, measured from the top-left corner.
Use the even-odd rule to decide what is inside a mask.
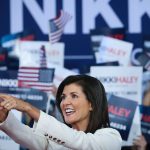
[[[13,113],[21,121],[21,113],[15,110],[13,110]],[[4,132],[0,131],[0,150],[20,150],[20,145],[14,142]]]

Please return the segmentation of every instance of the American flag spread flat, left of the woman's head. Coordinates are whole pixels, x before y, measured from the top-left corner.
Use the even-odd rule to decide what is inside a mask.
[[[20,67],[18,70],[18,87],[51,92],[53,90],[53,78],[53,68]]]

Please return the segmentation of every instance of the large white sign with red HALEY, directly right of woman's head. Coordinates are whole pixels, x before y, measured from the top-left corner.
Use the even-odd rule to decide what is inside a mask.
[[[142,100],[142,72],[142,67],[92,66],[90,68],[91,76],[103,83],[107,93],[137,101],[138,104],[141,104]],[[123,145],[132,145],[133,139],[139,134],[141,134],[141,125],[140,112],[137,108],[128,140],[124,141]]]

